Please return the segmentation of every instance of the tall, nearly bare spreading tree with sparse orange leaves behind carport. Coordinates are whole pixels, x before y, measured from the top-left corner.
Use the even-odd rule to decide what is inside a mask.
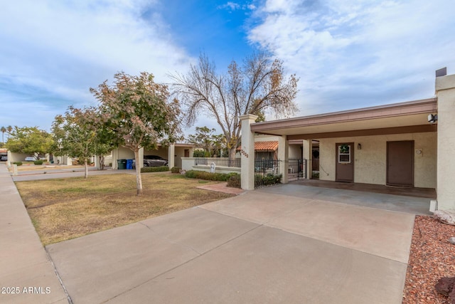
[[[213,117],[223,131],[230,159],[235,158],[240,145],[240,115],[264,117],[269,111],[289,116],[297,110],[294,98],[298,79],[295,75],[285,79],[282,61],[271,61],[265,53],[245,58],[242,67],[232,61],[226,75],[218,74],[215,63],[201,54],[187,75],[171,78],[186,108],[186,124],[193,125],[201,113]]]

